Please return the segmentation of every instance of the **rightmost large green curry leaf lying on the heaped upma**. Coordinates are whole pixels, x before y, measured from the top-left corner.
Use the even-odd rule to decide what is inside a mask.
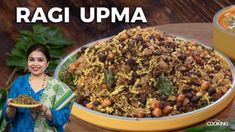
[[[159,85],[160,94],[164,94],[167,96],[174,94],[174,87],[173,87],[172,82],[164,75],[161,75],[159,77],[158,85]]]

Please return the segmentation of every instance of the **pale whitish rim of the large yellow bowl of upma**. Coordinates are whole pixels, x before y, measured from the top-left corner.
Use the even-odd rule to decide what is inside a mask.
[[[54,77],[56,79],[59,80],[59,73],[60,73],[60,69],[62,67],[62,65],[71,57],[73,56],[74,54],[76,54],[79,50],[81,50],[82,47],[89,47],[89,46],[92,46],[92,45],[95,45],[96,43],[98,42],[103,42],[103,41],[106,41],[108,39],[110,39],[111,37],[107,37],[107,38],[103,38],[103,39],[99,39],[99,40],[96,40],[96,41],[93,41],[93,42],[89,42],[77,49],[75,49],[74,51],[72,51],[71,53],[69,53],[65,58],[63,58],[59,65],[56,67],[56,70],[54,72]],[[187,39],[185,37],[177,37],[176,36],[176,39],[179,39],[179,40],[185,40],[185,41],[190,41],[190,39]],[[110,114],[106,114],[106,113],[102,113],[102,112],[99,112],[99,111],[96,111],[96,110],[91,110],[89,108],[86,108],[80,104],[78,104],[77,102],[74,102],[74,105],[78,108],[80,108],[81,110],[85,110],[85,111],[88,111],[88,112],[91,112],[93,114],[97,114],[97,115],[100,115],[100,116],[105,116],[105,117],[108,117],[108,118],[114,118],[114,119],[122,119],[122,120],[132,120],[132,121],[146,121],[146,120],[166,120],[166,119],[174,119],[174,118],[179,118],[179,117],[184,117],[184,116],[188,116],[188,115],[191,115],[191,114],[194,114],[194,113],[200,113],[201,111],[204,111],[205,109],[208,109],[210,107],[213,107],[215,105],[217,105],[219,102],[221,102],[221,100],[223,100],[225,97],[227,97],[229,94],[232,94],[232,91],[235,90],[235,67],[233,65],[233,63],[231,62],[231,60],[225,56],[223,53],[217,51],[216,49],[208,46],[208,45],[205,45],[197,40],[194,40],[194,42],[196,42],[197,44],[205,47],[205,48],[211,48],[215,51],[216,54],[218,54],[222,59],[224,59],[224,61],[226,61],[226,63],[228,63],[230,69],[231,69],[231,72],[232,72],[232,85],[231,87],[229,88],[229,90],[222,96],[220,97],[218,100],[216,100],[215,102],[213,102],[212,104],[210,105],[207,105],[205,107],[202,107],[200,109],[197,109],[197,110],[193,110],[193,111],[190,111],[190,112],[187,112],[187,113],[182,113],[182,114],[177,114],[177,115],[170,115],[170,116],[164,116],[164,117],[144,117],[144,118],[138,118],[138,117],[124,117],[124,116],[116,116],[116,115],[110,115]]]

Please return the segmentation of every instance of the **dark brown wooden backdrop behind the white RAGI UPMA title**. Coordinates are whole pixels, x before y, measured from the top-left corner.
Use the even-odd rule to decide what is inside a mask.
[[[76,41],[67,48],[67,53],[88,42],[105,38],[119,31],[140,25],[141,27],[157,26],[172,23],[211,23],[213,16],[220,9],[235,4],[235,0],[1,0],[0,1],[0,87],[6,87],[5,82],[12,72],[7,67],[7,54],[15,45],[19,30],[31,30],[33,24],[16,24],[15,12],[18,6],[28,7],[31,12],[36,7],[44,11],[52,7],[69,7],[69,24],[43,24],[61,29],[67,38]],[[133,13],[135,7],[142,7],[148,23],[125,24],[118,22],[110,24],[106,19],[101,24],[95,22],[85,24],[79,19],[79,8],[85,7],[130,7]]]

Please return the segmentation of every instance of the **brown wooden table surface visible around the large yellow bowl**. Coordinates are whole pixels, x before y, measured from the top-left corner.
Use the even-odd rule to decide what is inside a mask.
[[[185,24],[168,24],[157,26],[161,31],[171,33],[184,38],[189,38],[195,41],[202,42],[207,45],[212,45],[212,24],[211,23],[185,23]],[[211,119],[227,120],[235,119],[235,102],[233,101],[222,112],[212,117]],[[197,124],[201,125],[206,121]],[[112,130],[106,130],[90,123],[80,120],[79,118],[71,115],[70,121],[65,128],[66,132],[113,132]]]

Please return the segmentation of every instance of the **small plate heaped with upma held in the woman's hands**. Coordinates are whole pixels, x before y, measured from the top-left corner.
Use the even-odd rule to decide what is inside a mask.
[[[17,98],[12,99],[10,104],[18,107],[36,107],[39,102],[26,94],[21,94]]]

